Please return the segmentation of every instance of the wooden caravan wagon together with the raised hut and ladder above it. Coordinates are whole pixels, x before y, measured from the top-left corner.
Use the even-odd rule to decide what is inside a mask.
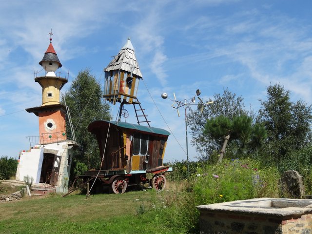
[[[163,190],[166,186],[164,174],[172,171],[171,167],[163,166],[170,133],[150,127],[150,121],[137,99],[138,83],[143,78],[130,38],[104,71],[103,97],[113,105],[120,103],[118,121],[98,120],[89,124],[88,131],[95,134],[98,140],[101,166],[99,170],[87,171],[78,178],[84,180],[83,184],[90,182],[96,187],[110,186],[116,194],[124,193],[129,185],[141,183]],[[124,106],[130,104],[134,106],[138,124],[120,121]],[[142,114],[138,115],[138,112]],[[123,116],[126,118],[126,115]],[[151,174],[148,177],[152,178],[147,178],[146,174]]]

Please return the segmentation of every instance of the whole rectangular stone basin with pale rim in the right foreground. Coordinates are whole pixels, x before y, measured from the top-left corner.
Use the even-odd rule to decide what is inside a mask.
[[[201,234],[312,234],[312,199],[254,198],[197,208]]]

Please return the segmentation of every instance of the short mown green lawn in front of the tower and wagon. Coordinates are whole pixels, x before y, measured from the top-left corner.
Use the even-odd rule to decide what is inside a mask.
[[[155,212],[137,214],[142,206],[149,210],[156,197],[155,191],[135,191],[87,199],[85,195],[54,195],[4,202],[0,203],[0,233],[175,233],[157,229],[161,220]]]

